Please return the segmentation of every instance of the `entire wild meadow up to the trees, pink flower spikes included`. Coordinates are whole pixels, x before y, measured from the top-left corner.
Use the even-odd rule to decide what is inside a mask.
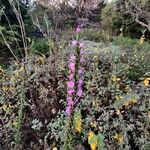
[[[45,21],[46,29],[36,24],[39,38],[20,31],[20,49],[0,30],[12,55],[0,65],[0,149],[149,150],[145,32],[132,39],[82,24],[56,32]]]

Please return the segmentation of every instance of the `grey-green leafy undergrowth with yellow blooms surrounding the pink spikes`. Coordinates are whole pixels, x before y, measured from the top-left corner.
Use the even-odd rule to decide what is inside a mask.
[[[1,71],[2,146],[148,148],[150,54],[137,47],[84,49],[84,93],[70,119],[64,107],[72,47],[55,57],[31,55],[25,68]]]

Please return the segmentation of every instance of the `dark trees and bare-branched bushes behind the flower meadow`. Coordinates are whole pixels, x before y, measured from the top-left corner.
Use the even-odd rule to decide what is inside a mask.
[[[144,2],[112,0],[109,3],[107,0],[62,2],[19,0],[19,5],[28,38],[28,48],[31,49],[33,46],[33,51],[36,53],[37,51],[47,53],[48,47],[52,45],[49,42],[58,42],[62,37],[71,39],[73,28],[77,25],[85,29],[81,35],[84,39],[96,42],[112,42],[114,36],[120,35],[129,38],[128,42],[132,39],[135,41],[142,35],[146,41],[150,38],[148,0]],[[13,47],[13,52],[20,57],[23,41],[17,16],[9,0],[0,0],[0,31]],[[20,50],[16,47],[15,41],[18,42]],[[6,56],[11,57],[2,36],[0,36],[0,49],[2,63]]]

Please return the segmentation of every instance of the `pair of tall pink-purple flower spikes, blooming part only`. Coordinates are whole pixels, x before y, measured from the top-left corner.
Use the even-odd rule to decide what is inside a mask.
[[[79,102],[83,96],[83,74],[84,68],[82,64],[84,63],[83,58],[83,43],[79,42],[78,33],[81,29],[77,27],[76,40],[72,41],[72,47],[75,48],[75,54],[72,53],[69,56],[69,76],[67,81],[67,107],[66,114],[70,116],[73,112],[75,104]]]

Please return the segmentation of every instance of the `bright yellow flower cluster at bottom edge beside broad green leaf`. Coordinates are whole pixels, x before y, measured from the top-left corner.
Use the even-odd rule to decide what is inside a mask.
[[[90,142],[91,139],[92,139],[94,136],[96,136],[96,135],[94,134],[94,132],[93,132],[93,131],[90,131],[89,134],[88,134],[88,143],[90,144],[91,150],[96,150],[97,144],[98,144],[97,138],[95,138],[94,141]]]

